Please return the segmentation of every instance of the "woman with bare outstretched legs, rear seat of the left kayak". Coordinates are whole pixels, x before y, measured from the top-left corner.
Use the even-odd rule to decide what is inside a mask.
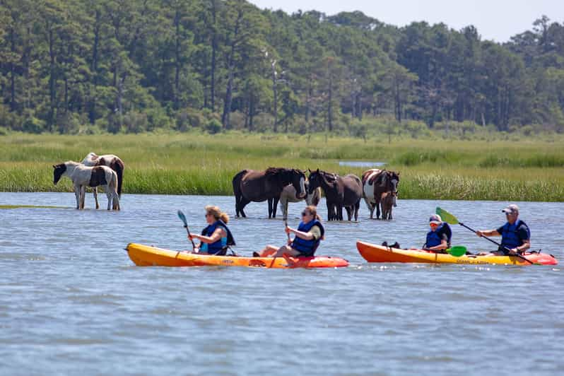
[[[288,245],[278,248],[267,245],[257,257],[282,257],[283,255],[293,257],[312,257],[319,247],[319,242],[324,239],[325,229],[317,215],[317,208],[313,205],[306,206],[302,211],[302,221],[298,228],[290,228],[286,225],[288,234]],[[294,233],[294,240],[290,240],[290,233]]]

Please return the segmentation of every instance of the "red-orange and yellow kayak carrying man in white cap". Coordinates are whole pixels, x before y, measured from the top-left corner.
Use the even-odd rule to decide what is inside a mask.
[[[360,255],[368,262],[414,262],[431,264],[501,264],[531,265],[524,259],[515,256],[471,256],[454,257],[450,254],[424,251],[423,249],[399,249],[374,245],[367,242],[356,242]],[[523,255],[534,264],[556,265],[558,261],[546,253],[526,253]]]

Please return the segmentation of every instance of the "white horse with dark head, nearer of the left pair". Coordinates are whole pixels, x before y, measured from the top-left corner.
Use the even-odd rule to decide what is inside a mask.
[[[114,210],[119,210],[117,174],[111,168],[107,166],[85,166],[72,160],[59,165],[53,165],[53,184],[57,185],[63,176],[69,177],[74,184],[77,209],[84,208],[86,186],[98,187],[98,185],[102,185],[107,196],[107,210],[110,210],[110,207],[113,207]]]

